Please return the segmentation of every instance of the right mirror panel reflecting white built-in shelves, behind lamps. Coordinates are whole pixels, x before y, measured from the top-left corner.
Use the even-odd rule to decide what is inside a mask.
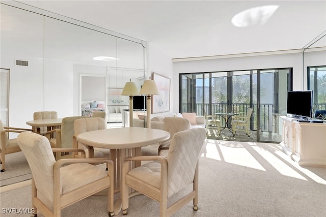
[[[144,83],[144,46],[129,40],[117,39],[117,67],[107,67],[108,116],[111,127],[129,127],[129,97],[121,92],[126,82],[132,81],[138,89]],[[144,112],[144,111],[143,111]],[[133,116],[138,118],[138,113]]]

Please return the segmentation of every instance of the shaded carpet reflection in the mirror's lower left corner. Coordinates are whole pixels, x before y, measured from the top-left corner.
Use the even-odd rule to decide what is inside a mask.
[[[31,179],[31,170],[24,154],[6,154],[6,171],[0,173],[0,187]]]

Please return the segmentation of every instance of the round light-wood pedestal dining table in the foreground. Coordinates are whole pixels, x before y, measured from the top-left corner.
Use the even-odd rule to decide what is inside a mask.
[[[76,140],[89,149],[89,158],[94,157],[94,147],[110,149],[110,158],[114,162],[115,192],[120,192],[121,165],[129,156],[140,156],[141,147],[157,144],[170,138],[170,133],[164,130],[150,128],[111,128],[89,131],[77,135]],[[140,166],[141,162],[130,165],[131,168]],[[122,207],[122,195],[115,203],[115,213]]]

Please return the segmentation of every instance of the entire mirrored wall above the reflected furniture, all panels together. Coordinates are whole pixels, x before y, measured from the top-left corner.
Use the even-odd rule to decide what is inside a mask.
[[[131,79],[140,89],[146,78],[146,42],[25,5],[0,7],[10,126],[28,128],[36,111],[67,117],[94,110],[121,126],[121,111],[129,106],[121,96],[124,84]],[[86,102],[97,107],[83,107]]]

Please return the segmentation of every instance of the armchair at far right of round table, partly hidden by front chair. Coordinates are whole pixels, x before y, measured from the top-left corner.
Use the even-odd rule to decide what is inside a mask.
[[[190,122],[188,119],[182,117],[166,117],[164,119],[163,130],[168,131],[170,133],[170,139],[162,141],[158,144],[142,147],[142,156],[162,155],[164,150],[169,149],[172,137],[175,133],[189,129]]]

